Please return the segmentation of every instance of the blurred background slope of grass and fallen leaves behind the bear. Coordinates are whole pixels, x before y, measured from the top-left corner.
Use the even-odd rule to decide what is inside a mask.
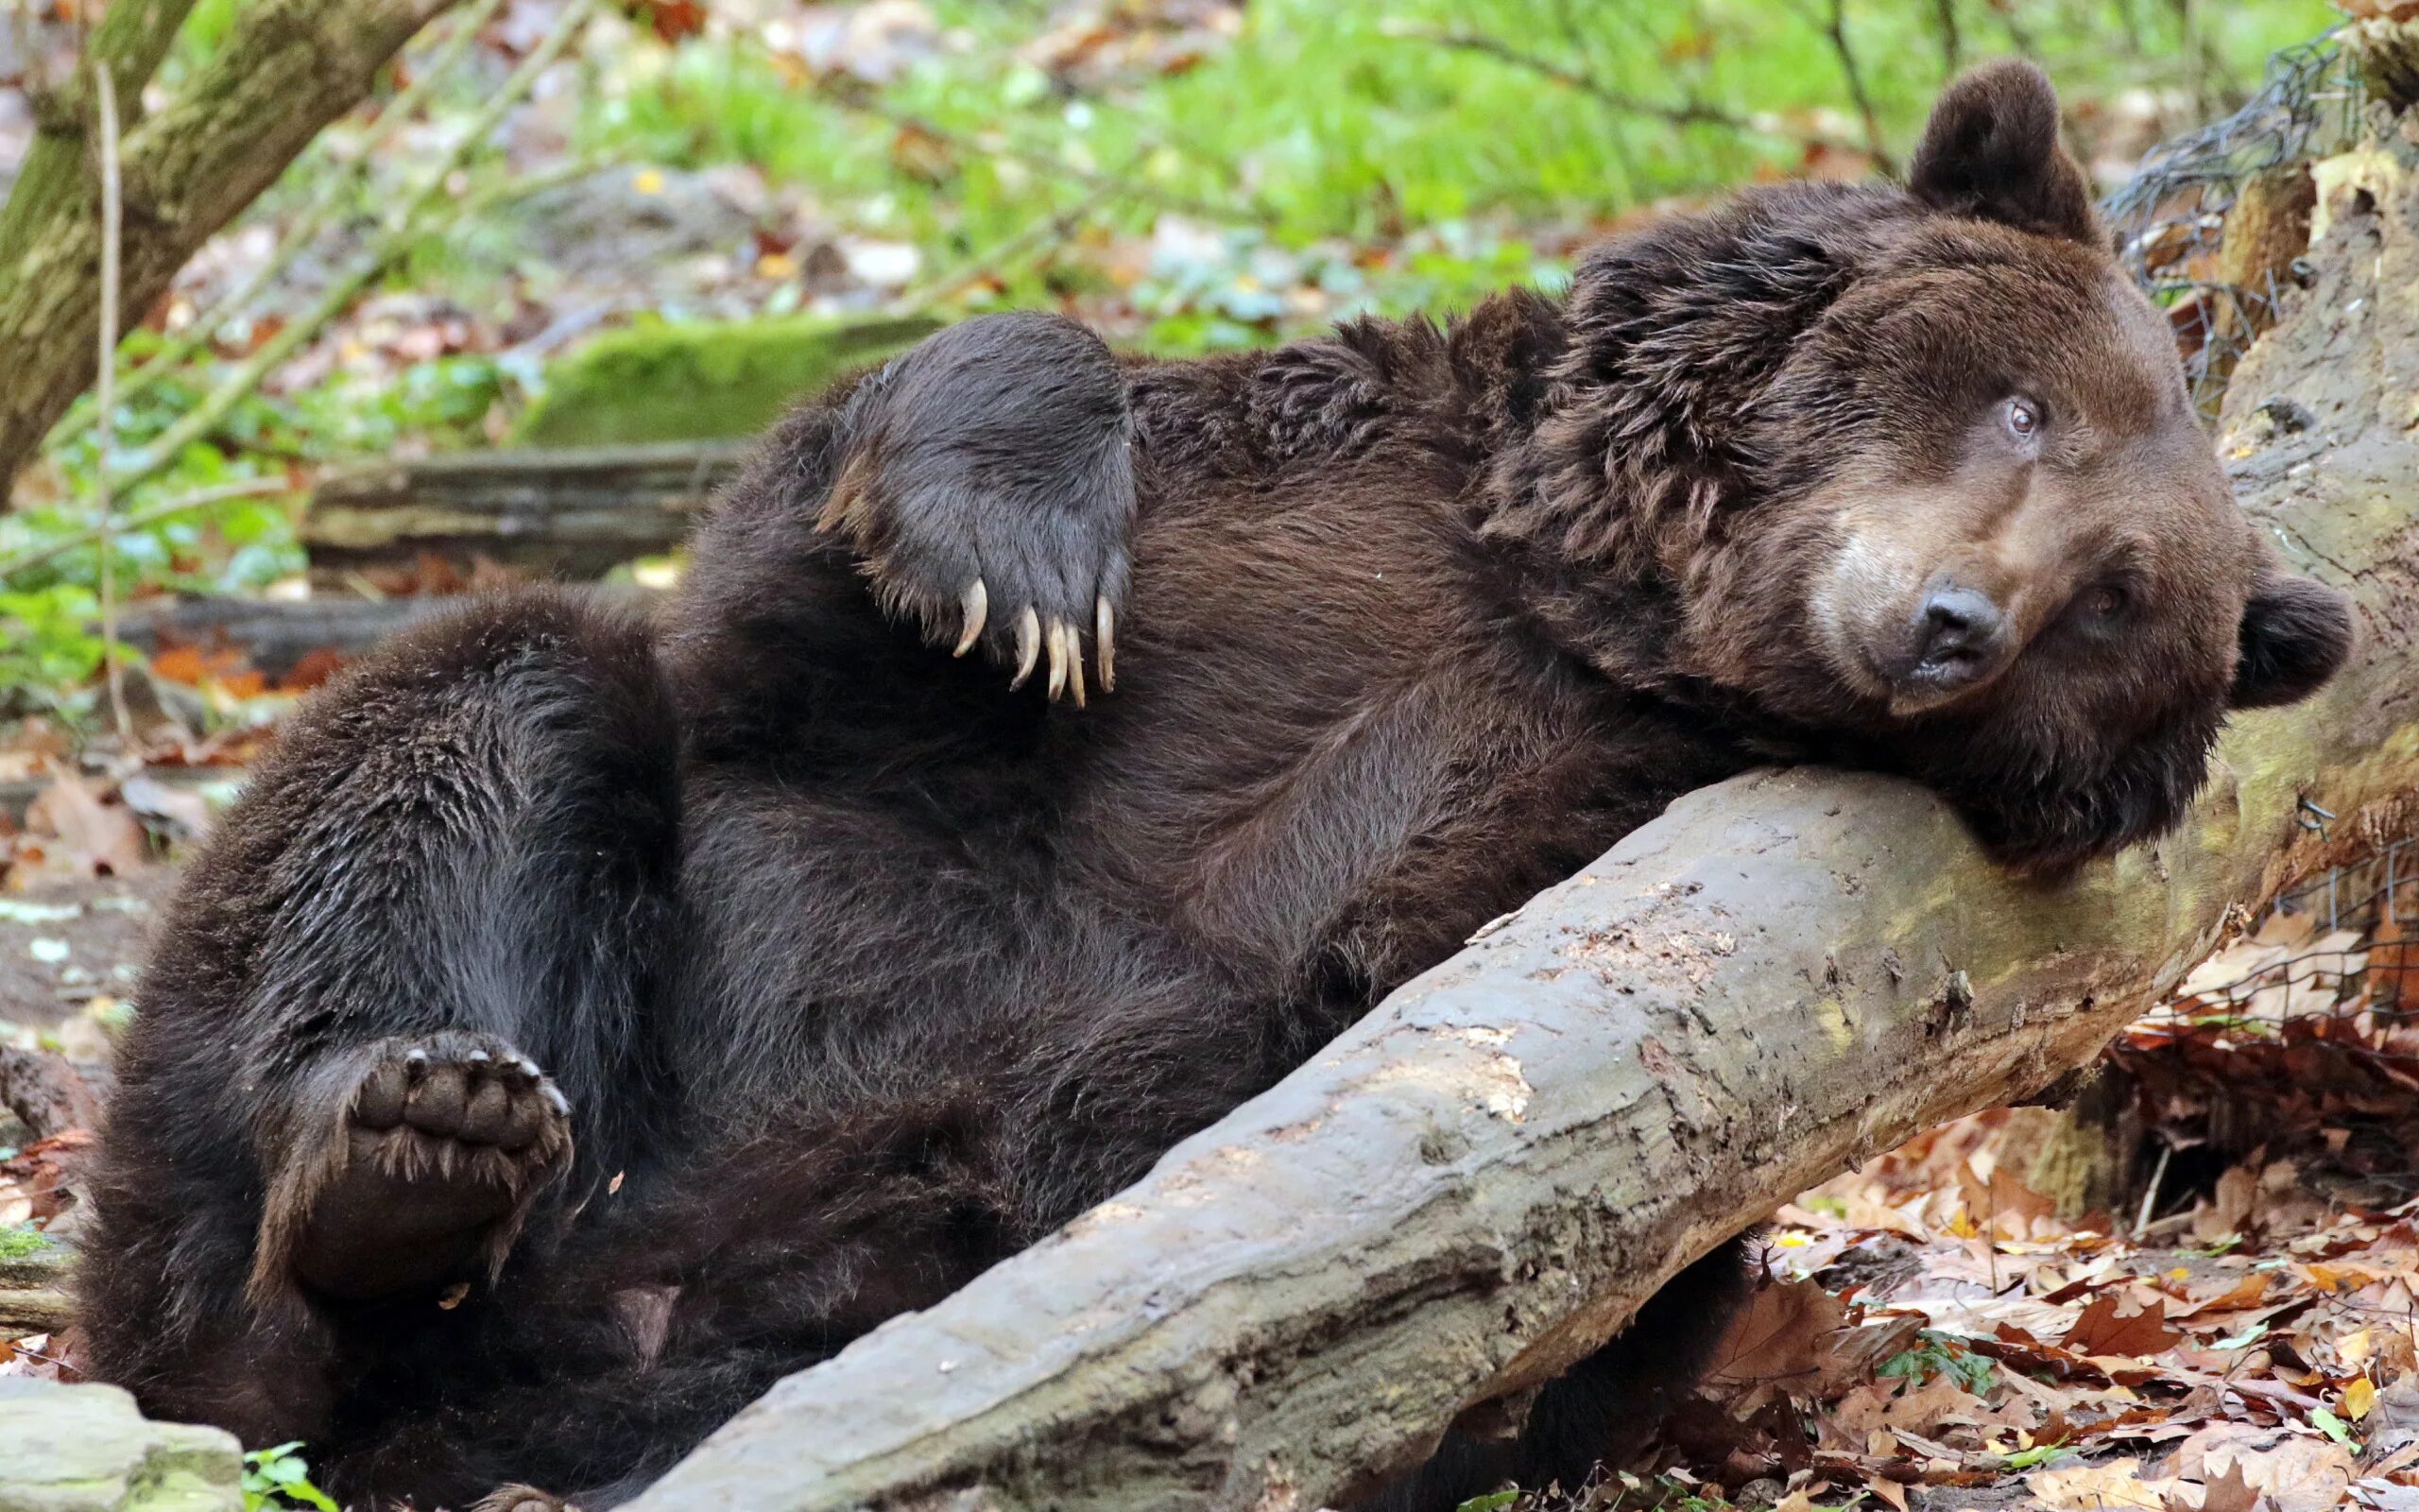
[[[196,5],[155,90],[230,46],[244,2]],[[464,140],[559,2],[440,19],[169,300],[128,312],[116,457],[155,472],[119,518],[264,479],[114,532],[133,595],[293,593],[317,469],[508,440],[614,327],[1060,305],[1151,351],[1272,341],[1553,281],[1672,198],[1887,172],[1942,77],[1993,53],[2059,77],[2114,177],[2332,19],[2317,0],[641,0]],[[22,12],[0,46],[0,179],[77,24]],[[298,225],[319,230],[196,329]],[[365,259],[324,329],[143,452]],[[97,467],[85,404],[0,515],[0,697],[70,731],[97,709]]]

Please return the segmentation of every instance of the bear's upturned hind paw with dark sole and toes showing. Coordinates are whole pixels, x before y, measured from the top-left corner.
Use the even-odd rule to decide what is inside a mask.
[[[261,1263],[356,1302],[493,1272],[568,1164],[571,1103],[530,1057],[472,1033],[387,1040],[271,1193]]]

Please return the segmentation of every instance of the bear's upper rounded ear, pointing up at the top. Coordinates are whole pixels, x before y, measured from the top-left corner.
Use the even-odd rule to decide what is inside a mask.
[[[2022,58],[1984,63],[1947,87],[1906,186],[1950,215],[2107,247],[2083,167],[2059,143],[2059,92]]]

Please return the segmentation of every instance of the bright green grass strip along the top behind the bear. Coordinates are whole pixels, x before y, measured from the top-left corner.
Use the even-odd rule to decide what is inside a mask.
[[[1863,140],[1838,51],[1812,24],[1819,7],[1255,0],[1241,39],[1193,73],[1067,102],[1016,58],[1030,24],[1021,12],[943,5],[975,46],[912,68],[881,97],[893,114],[994,145],[960,155],[939,186],[897,172],[883,123],[791,80],[752,39],[634,53],[602,80],[583,126],[593,145],[668,165],[764,165],[854,206],[866,230],[934,247],[980,249],[1064,210],[1086,172],[1139,186],[1098,210],[1105,223],[1139,227],[1180,201],[1297,244],[1473,215],[1589,220],[1792,172],[1802,133]],[[2274,48],[2334,19],[2322,0],[2201,0],[2189,34],[2172,0],[2008,10],[2073,99],[2199,87],[2209,109],[2240,97]],[[1962,63],[2017,51],[2001,7],[1969,0],[1957,15]],[[1439,44],[1437,31],[1493,39],[1604,94],[1701,102],[1783,131],[1672,126],[1519,60]],[[1858,0],[1846,31],[1882,143],[1904,157],[1947,77],[1938,7]]]

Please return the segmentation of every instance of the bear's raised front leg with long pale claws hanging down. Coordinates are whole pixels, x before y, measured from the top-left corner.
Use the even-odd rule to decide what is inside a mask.
[[[864,675],[905,629],[980,651],[999,694],[1081,704],[1115,685],[1135,496],[1108,346],[1052,314],[968,319],[764,440],[699,530],[680,644],[711,648],[682,660],[750,673],[709,702],[796,706],[789,685]]]

